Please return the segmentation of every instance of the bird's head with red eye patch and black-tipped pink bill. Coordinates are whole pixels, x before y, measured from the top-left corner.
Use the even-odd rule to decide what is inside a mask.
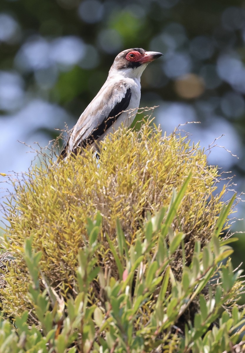
[[[109,75],[120,73],[125,77],[140,78],[149,62],[162,55],[158,52],[147,52],[142,48],[126,49],[115,57]]]

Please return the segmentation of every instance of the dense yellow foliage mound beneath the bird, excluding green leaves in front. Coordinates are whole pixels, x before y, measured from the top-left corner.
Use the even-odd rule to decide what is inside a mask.
[[[106,234],[116,246],[116,220],[134,244],[147,215],[169,207],[173,190],[177,192],[191,178],[172,222],[172,232],[186,234],[185,261],[190,264],[196,240],[201,246],[210,240],[222,208],[215,196],[216,167],[209,167],[203,151],[189,140],[143,124],[141,131],[117,131],[111,141],[104,140],[100,160],[90,151],[68,158],[60,164],[43,163],[25,175],[16,186],[16,210],[22,216],[10,220],[5,246],[16,258],[18,269],[10,269],[3,301],[12,315],[32,308],[28,295],[30,278],[23,261],[24,241],[32,237],[32,247],[41,250],[42,274],[57,292],[76,291],[78,251],[86,247],[87,217],[102,215],[97,264],[118,279],[115,259],[108,250]],[[142,241],[143,235],[141,235]],[[180,248],[172,255],[171,267],[179,278],[183,259]],[[91,301],[96,294],[91,287]]]

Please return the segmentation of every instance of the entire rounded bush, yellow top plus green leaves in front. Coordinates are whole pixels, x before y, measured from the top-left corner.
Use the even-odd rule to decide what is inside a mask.
[[[243,282],[225,261],[231,239],[219,238],[235,196],[215,194],[217,167],[198,144],[147,122],[104,140],[99,161],[88,150],[49,162],[16,184],[6,229],[16,264],[1,298],[17,327],[1,321],[9,352],[22,335],[23,352],[239,345]]]

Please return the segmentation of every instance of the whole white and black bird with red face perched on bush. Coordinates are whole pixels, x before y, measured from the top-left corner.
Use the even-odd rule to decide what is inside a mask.
[[[81,147],[88,145],[98,150],[100,140],[118,129],[121,123],[125,127],[131,125],[141,99],[142,72],[149,62],[161,55],[132,48],[116,56],[106,82],[72,128],[61,159],[76,155]]]

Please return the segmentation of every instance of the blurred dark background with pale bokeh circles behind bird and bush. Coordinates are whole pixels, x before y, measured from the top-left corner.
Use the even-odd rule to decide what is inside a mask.
[[[235,175],[231,189],[243,192],[244,0],[1,0],[0,173],[28,170],[34,155],[18,141],[46,146],[55,129],[71,128],[115,56],[131,47],[164,55],[142,75],[141,107],[159,106],[156,123],[167,134],[201,122],[183,128],[207,149],[209,164]],[[210,152],[210,145],[225,148]],[[237,210],[243,218],[243,203]],[[244,229],[235,222],[233,231]],[[235,265],[244,260],[239,237]]]

